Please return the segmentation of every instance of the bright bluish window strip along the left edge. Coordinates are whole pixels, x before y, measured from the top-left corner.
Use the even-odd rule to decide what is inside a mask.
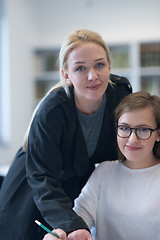
[[[0,0],[0,145],[10,141],[8,27],[4,3],[5,0]]]

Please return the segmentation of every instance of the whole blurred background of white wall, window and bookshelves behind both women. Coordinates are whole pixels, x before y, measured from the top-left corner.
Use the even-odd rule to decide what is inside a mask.
[[[0,173],[22,145],[35,105],[59,81],[63,38],[87,28],[110,47],[112,73],[160,95],[159,0],[0,0]]]

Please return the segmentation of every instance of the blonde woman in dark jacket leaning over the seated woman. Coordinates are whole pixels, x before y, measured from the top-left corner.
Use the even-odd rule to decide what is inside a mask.
[[[67,233],[88,229],[74,199],[96,163],[117,158],[113,112],[131,85],[110,73],[109,49],[96,32],[69,34],[59,61],[61,83],[36,108],[1,188],[2,239],[41,239],[35,219]]]

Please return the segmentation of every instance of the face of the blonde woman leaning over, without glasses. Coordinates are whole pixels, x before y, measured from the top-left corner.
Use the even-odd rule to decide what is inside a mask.
[[[74,86],[76,105],[83,111],[87,106],[99,105],[108,86],[111,63],[103,47],[85,42],[73,49],[67,59],[65,79]]]

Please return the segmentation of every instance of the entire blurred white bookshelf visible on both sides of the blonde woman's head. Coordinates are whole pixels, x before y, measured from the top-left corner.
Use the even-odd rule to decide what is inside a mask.
[[[127,77],[133,91],[160,95],[160,41],[109,44],[112,73]],[[37,48],[34,58],[35,104],[59,81],[59,48]]]

